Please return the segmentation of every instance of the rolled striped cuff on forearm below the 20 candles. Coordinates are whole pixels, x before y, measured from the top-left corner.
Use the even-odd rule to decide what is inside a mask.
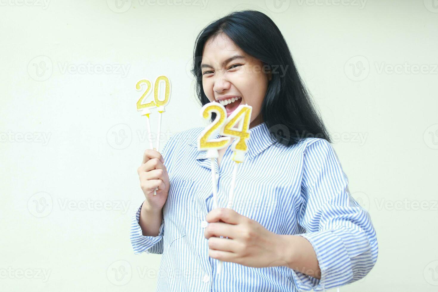
[[[143,204],[141,204],[142,206]],[[141,227],[138,224],[140,218],[141,206],[132,216],[131,224],[131,245],[134,249],[134,254],[138,253],[163,253],[163,235],[164,235],[164,218],[161,222],[159,233],[157,236],[144,236]]]

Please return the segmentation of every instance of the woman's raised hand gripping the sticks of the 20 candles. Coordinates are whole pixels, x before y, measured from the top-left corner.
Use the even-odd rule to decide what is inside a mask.
[[[166,203],[170,187],[169,175],[161,154],[155,151],[155,148],[154,150],[147,149],[143,154],[143,162],[137,172],[148,208],[161,210],[164,203]],[[154,190],[157,187],[157,194],[154,196]]]

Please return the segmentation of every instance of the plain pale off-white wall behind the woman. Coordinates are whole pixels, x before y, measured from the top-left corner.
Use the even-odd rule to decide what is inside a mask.
[[[170,78],[166,135],[205,125],[195,37],[247,8],[283,33],[377,232],[377,264],[340,290],[436,291],[437,1],[115,3],[0,0],[2,291],[155,291],[161,256],[129,241],[148,148],[135,84]]]

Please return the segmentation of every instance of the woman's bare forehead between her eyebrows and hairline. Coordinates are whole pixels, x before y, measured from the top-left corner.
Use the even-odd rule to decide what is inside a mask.
[[[236,46],[228,35],[221,33],[205,42],[204,50],[202,51],[202,63],[220,62],[233,55],[247,57],[247,54]]]

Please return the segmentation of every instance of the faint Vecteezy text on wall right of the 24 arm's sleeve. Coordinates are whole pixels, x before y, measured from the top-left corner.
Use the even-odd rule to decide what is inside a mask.
[[[374,199],[377,206],[377,210],[383,209],[392,211],[438,211],[438,201],[412,201],[407,198],[403,200],[390,201],[385,199]]]

